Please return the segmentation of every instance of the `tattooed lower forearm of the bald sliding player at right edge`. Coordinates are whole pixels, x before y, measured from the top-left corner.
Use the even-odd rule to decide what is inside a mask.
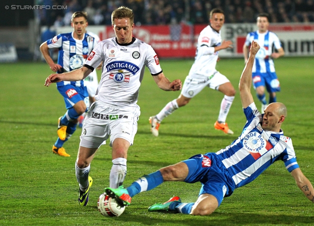
[[[296,181],[296,184],[312,203],[314,203],[314,188],[312,183],[307,179],[300,168],[291,171],[291,175]]]

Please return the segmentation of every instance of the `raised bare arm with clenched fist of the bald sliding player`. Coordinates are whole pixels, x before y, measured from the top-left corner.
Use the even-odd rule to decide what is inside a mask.
[[[260,45],[257,42],[253,41],[250,48],[249,58],[241,74],[239,90],[243,108],[247,108],[250,104],[254,102],[251,93],[252,68],[254,64],[255,55],[259,51],[259,49]]]

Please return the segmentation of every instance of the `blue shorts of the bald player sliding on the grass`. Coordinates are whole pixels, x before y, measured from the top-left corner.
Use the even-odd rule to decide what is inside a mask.
[[[219,206],[223,198],[230,196],[235,190],[232,177],[215,153],[196,155],[183,162],[188,167],[188,175],[184,182],[202,183],[199,196],[205,193],[213,195]]]

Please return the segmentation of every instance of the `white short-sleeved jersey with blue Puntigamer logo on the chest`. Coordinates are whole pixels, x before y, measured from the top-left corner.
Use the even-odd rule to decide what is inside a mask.
[[[162,72],[156,52],[151,45],[133,38],[121,45],[115,38],[100,42],[88,56],[85,67],[97,68],[103,61],[96,100],[117,107],[135,107],[145,66],[152,75]]]

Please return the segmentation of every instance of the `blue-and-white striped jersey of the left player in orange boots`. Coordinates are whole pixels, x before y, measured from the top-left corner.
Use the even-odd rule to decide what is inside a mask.
[[[68,72],[83,66],[89,53],[97,45],[95,39],[84,34],[82,40],[75,39],[73,32],[63,33],[47,40],[48,48],[59,48],[58,64],[62,66],[62,70],[57,73]],[[77,82],[58,82],[57,86],[74,85],[77,87],[84,86],[83,80]]]

